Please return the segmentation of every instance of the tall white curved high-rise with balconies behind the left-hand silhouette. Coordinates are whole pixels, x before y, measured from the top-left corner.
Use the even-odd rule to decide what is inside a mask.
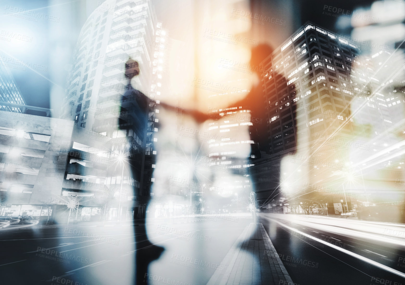
[[[76,126],[75,155],[69,157],[66,170],[66,180],[74,182],[66,181],[63,190],[67,195],[102,195],[105,201],[113,200],[111,206],[103,206],[93,199],[89,212],[91,207],[101,208],[113,219],[122,203],[119,216],[145,214],[156,164],[153,133],[159,103],[149,98],[160,95],[164,37],[150,0],[107,0],[83,25],[62,114]],[[129,58],[140,67],[132,86],[147,96],[139,96],[126,77],[134,75],[137,67],[135,62],[126,64]],[[95,193],[96,188],[100,193]]]

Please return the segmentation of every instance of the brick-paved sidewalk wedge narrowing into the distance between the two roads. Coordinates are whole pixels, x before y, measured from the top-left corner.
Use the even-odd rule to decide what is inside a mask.
[[[248,225],[207,285],[293,285],[261,223]]]

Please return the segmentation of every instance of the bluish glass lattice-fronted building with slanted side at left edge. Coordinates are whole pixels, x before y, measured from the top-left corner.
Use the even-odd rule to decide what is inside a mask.
[[[0,57],[0,103],[15,103],[25,105],[25,101],[21,96],[17,86],[14,82],[14,77],[11,74],[7,63]],[[0,104],[0,111],[11,111],[21,113],[21,109],[18,107],[11,107]]]

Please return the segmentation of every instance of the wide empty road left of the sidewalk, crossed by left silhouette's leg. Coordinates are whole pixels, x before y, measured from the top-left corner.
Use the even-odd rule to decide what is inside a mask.
[[[245,215],[149,223],[149,239],[165,250],[141,274],[156,284],[206,284],[251,222]],[[0,244],[0,283],[7,285],[133,284],[136,251],[150,245],[142,226],[125,224],[8,229]]]

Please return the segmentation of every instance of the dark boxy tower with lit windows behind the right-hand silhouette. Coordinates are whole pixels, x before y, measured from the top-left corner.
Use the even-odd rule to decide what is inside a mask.
[[[377,92],[377,68],[354,43],[311,22],[277,47],[262,66],[269,156],[251,169],[260,203],[277,204],[278,197],[330,187],[339,188],[340,199],[339,176],[394,141],[386,133],[391,119],[383,103],[386,94]],[[390,174],[386,180],[400,175]],[[349,191],[365,195],[365,183]],[[277,201],[269,199],[275,191],[282,191]],[[356,201],[347,203],[353,208]]]

